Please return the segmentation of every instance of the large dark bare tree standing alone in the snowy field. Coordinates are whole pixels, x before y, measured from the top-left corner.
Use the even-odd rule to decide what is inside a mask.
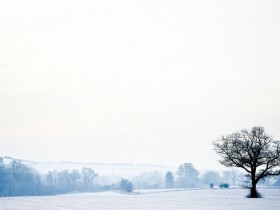
[[[280,142],[267,135],[263,127],[222,136],[213,145],[222,157],[221,164],[247,172],[251,198],[260,197],[257,192],[259,181],[280,175]]]

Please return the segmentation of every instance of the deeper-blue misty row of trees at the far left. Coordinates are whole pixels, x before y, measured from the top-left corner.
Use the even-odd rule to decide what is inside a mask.
[[[4,164],[0,157],[0,196],[53,195],[95,190],[93,180],[97,174],[90,168],[50,171],[40,175],[37,171],[13,160]]]

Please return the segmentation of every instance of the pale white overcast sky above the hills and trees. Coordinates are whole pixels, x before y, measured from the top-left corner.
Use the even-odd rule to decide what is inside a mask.
[[[0,156],[219,168],[280,138],[280,1],[0,0]]]

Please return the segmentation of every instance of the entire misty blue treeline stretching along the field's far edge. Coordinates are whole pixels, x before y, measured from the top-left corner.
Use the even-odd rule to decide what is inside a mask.
[[[98,178],[100,178],[99,181]],[[106,184],[104,180],[109,180],[109,178],[98,177],[91,168],[83,168],[80,171],[49,171],[47,174],[41,175],[18,160],[4,164],[0,157],[0,196],[2,197],[105,190],[131,192],[134,189],[152,188],[228,188],[232,185],[241,186],[244,176],[237,171],[225,171],[222,174],[208,171],[201,176],[191,163],[185,163],[180,165],[176,172],[168,171],[165,175],[155,171],[141,173],[131,177],[130,180],[120,177],[119,181],[109,181]],[[280,178],[276,182],[274,180],[274,183],[280,186]]]

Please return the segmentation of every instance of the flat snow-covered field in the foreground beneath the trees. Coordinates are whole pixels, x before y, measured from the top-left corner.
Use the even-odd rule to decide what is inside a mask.
[[[1,210],[270,210],[280,209],[280,189],[262,189],[262,199],[245,198],[246,190],[140,191],[127,195],[118,192],[68,194],[41,197],[0,198]]]

